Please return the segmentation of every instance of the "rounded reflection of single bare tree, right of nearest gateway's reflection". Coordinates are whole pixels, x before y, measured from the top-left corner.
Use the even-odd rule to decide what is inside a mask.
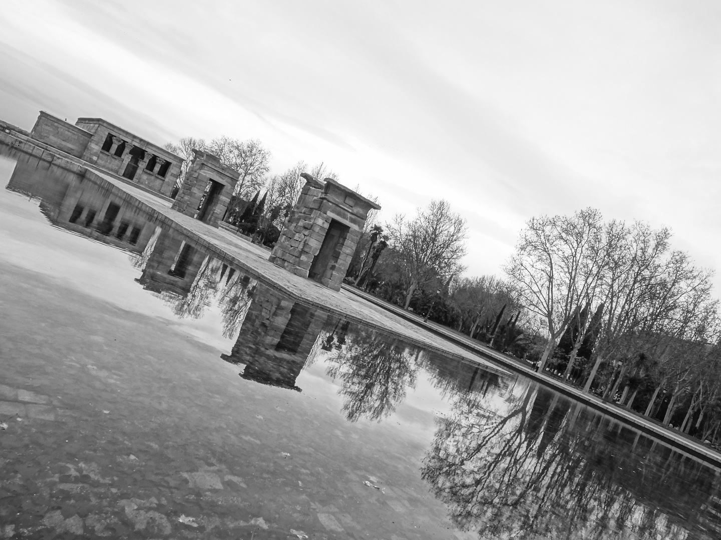
[[[342,412],[350,422],[380,422],[405,399],[407,387],[415,387],[420,349],[363,328],[342,336],[345,343],[329,357],[326,371],[341,381]]]

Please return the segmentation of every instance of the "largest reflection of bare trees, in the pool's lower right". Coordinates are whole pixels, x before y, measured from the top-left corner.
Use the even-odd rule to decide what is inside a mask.
[[[421,470],[456,526],[482,539],[689,537],[714,481],[703,464],[536,384],[492,397],[456,396]]]

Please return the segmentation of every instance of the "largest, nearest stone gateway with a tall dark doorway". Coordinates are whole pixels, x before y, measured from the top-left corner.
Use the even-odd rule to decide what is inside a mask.
[[[339,291],[368,211],[381,207],[333,179],[301,176],[306,184],[270,261]]]

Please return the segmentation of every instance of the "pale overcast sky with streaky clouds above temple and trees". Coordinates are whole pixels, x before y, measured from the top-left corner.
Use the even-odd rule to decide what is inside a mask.
[[[721,269],[718,1],[3,2],[0,118],[40,109],[260,138],[273,171],[323,161],[385,219],[443,197],[469,274],[587,206]]]

